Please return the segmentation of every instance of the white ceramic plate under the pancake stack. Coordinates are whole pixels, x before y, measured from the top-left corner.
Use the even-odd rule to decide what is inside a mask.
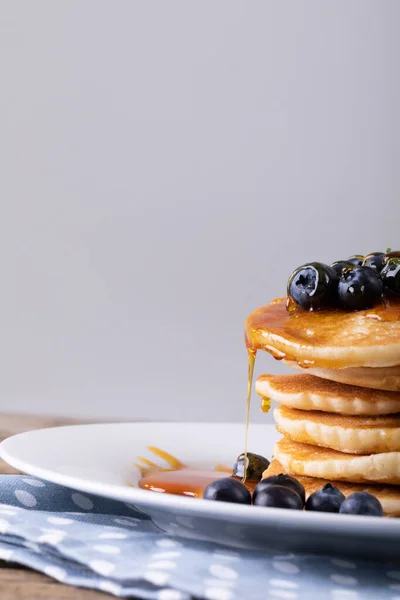
[[[23,433],[4,441],[1,457],[17,469],[81,492],[122,500],[172,535],[222,544],[393,560],[400,519],[307,513],[158,494],[137,487],[138,455],[158,446],[190,466],[232,465],[243,426],[222,423],[80,425]],[[250,427],[249,450],[270,457],[272,425]]]

